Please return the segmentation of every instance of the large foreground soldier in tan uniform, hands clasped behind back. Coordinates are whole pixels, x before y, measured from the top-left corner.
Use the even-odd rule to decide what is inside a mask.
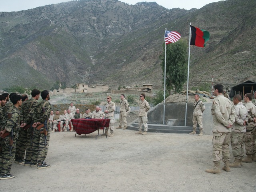
[[[231,127],[235,122],[234,107],[232,102],[223,96],[223,85],[214,86],[214,100],[212,101],[212,148],[214,168],[206,169],[208,173],[220,174],[220,162],[223,159],[223,170],[229,172],[229,144]]]

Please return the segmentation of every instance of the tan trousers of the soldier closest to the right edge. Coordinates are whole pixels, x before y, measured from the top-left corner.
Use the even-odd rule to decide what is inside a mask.
[[[256,144],[255,144],[255,131],[256,128],[252,131],[246,131],[244,134],[244,146],[246,150],[246,154],[254,154],[256,152]]]

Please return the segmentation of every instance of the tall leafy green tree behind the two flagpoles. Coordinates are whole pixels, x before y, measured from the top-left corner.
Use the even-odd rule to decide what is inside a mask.
[[[188,71],[188,42],[180,39],[166,45],[166,90],[174,94],[180,92],[186,82]],[[162,70],[164,72],[164,54],[162,55]],[[163,73],[164,76],[164,73]]]

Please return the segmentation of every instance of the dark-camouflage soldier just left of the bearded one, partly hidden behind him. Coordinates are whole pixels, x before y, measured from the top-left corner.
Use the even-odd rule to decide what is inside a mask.
[[[16,144],[15,162],[18,162],[18,164],[24,163],[25,166],[30,166],[31,156],[33,154],[32,144],[31,144],[33,128],[31,128],[32,122],[28,118],[28,115],[32,110],[32,108],[36,107],[37,100],[39,99],[39,97],[40,97],[40,91],[37,89],[33,89],[31,92],[31,98],[29,100],[22,102],[22,105],[20,108],[20,122],[26,123],[26,125],[28,125],[29,128],[27,130],[24,130],[24,124],[21,125],[20,136]],[[24,161],[25,151],[26,151],[26,160]]]

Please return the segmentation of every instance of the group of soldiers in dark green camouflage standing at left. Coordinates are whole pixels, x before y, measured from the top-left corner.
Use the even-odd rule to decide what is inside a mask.
[[[37,102],[40,94],[43,100]],[[34,89],[31,96],[23,103],[21,96],[15,93],[0,96],[0,180],[14,178],[10,174],[14,159],[18,164],[37,166],[38,169],[50,167],[44,162],[50,138],[50,95],[47,90],[40,92]],[[11,102],[5,104],[9,98]]]

